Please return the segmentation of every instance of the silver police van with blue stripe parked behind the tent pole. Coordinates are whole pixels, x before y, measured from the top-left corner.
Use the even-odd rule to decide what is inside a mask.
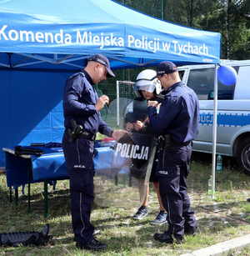
[[[250,60],[222,60],[238,73],[231,86],[218,82],[217,153],[237,158],[250,173]],[[193,88],[200,103],[199,134],[193,150],[213,152],[214,65],[188,65],[179,68],[183,83]]]

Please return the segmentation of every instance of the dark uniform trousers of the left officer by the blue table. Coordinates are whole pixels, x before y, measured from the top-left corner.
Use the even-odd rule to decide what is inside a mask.
[[[77,242],[87,243],[92,240],[94,231],[90,223],[94,199],[94,142],[84,138],[69,142],[67,136],[67,133],[64,133],[62,148],[70,178],[72,229]]]

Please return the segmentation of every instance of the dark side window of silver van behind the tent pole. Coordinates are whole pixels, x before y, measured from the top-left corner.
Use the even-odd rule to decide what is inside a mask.
[[[193,88],[199,99],[213,99],[214,68],[191,69],[188,87]],[[233,99],[235,84],[228,86],[218,82],[218,99]]]

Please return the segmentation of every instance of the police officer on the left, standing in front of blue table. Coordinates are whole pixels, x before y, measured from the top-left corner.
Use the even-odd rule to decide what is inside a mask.
[[[106,244],[93,237],[90,223],[93,202],[93,147],[97,132],[118,139],[123,131],[107,127],[100,110],[109,98],[97,97],[93,84],[107,77],[115,77],[108,59],[97,54],[87,59],[87,66],[67,79],[63,96],[65,132],[62,138],[63,153],[70,177],[72,228],[78,248],[99,250]]]

